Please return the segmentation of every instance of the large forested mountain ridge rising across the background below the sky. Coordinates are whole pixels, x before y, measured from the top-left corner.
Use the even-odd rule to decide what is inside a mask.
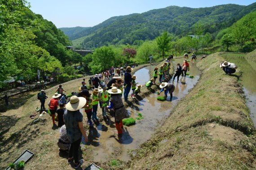
[[[198,9],[169,6],[141,14],[111,17],[97,26],[74,31],[73,35],[66,35],[71,40],[79,38],[73,41],[76,47],[88,49],[113,43],[135,44],[136,40],[152,40],[163,31],[181,37],[194,34],[192,27],[201,23],[205,32],[211,33],[214,37],[219,30],[231,26],[255,9],[256,3],[248,6],[225,4]],[[67,28],[64,31],[64,33],[71,32]]]

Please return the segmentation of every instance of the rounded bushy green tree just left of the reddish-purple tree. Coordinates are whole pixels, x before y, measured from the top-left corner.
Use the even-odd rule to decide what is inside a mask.
[[[115,52],[112,47],[102,46],[93,52],[93,61],[89,63],[91,72],[102,72],[113,66],[115,59]]]

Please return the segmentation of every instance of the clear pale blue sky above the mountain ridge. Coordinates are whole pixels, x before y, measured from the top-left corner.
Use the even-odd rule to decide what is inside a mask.
[[[27,0],[31,10],[57,28],[95,26],[114,16],[143,13],[171,5],[190,8],[220,4],[249,5],[256,0]]]

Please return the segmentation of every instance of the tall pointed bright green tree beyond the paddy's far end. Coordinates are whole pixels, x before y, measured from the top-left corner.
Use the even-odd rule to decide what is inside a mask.
[[[165,53],[171,48],[170,46],[171,38],[172,37],[168,35],[167,31],[164,31],[161,36],[156,38],[156,42],[162,57],[164,57]]]

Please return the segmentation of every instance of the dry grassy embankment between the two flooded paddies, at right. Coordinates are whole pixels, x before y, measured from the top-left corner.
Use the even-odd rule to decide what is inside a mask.
[[[256,168],[255,129],[236,76],[219,68],[223,60],[215,53],[197,64],[200,81],[137,149],[129,169]]]

